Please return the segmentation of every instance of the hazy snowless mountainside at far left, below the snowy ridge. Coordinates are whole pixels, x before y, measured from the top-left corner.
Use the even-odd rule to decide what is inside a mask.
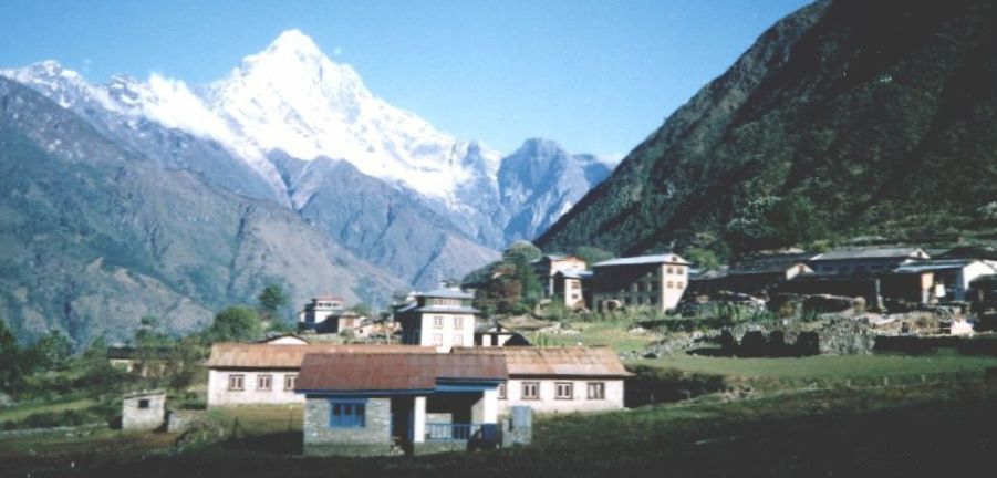
[[[295,303],[320,280],[347,300],[405,282],[293,211],[123,149],[0,79],[0,314],[22,337],[131,336],[145,314],[189,330],[270,282]]]

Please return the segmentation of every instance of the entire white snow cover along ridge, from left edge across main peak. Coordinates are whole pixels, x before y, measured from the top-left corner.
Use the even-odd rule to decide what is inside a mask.
[[[459,141],[377,97],[353,67],[331,61],[300,30],[281,33],[227,76],[199,87],[159,73],[144,82],[115,76],[91,85],[53,61],[0,74],[42,91],[63,107],[95,102],[117,115],[214,139],[277,190],[284,185],[267,159],[274,150],[304,160],[342,158],[368,176],[411,187],[455,210],[487,195],[484,189],[497,189],[499,153]]]

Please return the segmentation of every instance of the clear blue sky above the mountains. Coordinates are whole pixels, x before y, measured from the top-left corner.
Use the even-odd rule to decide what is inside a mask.
[[[375,94],[510,153],[621,155],[802,0],[0,1],[0,67],[207,83],[287,29]]]

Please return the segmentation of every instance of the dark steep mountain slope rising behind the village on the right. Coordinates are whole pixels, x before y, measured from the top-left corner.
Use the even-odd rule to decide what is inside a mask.
[[[997,6],[820,1],[765,32],[539,246],[994,240]]]

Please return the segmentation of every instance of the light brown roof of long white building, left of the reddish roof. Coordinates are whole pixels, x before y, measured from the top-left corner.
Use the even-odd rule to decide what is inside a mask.
[[[308,353],[340,354],[407,354],[435,352],[435,347],[416,345],[340,345],[316,343],[282,345],[267,343],[221,342],[211,345],[208,367],[211,368],[298,368]]]

